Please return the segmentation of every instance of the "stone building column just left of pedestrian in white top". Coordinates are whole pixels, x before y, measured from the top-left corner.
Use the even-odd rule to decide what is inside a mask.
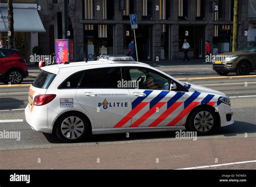
[[[179,59],[179,25],[171,25],[171,60]]]

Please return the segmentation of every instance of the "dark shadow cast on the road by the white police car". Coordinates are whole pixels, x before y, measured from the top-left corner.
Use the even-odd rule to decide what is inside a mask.
[[[235,121],[233,125],[218,128],[215,133],[207,136],[214,136],[214,135],[236,136],[238,134],[245,134],[245,133],[247,134],[256,133],[256,125],[245,123],[242,121]],[[112,142],[112,141],[124,141],[124,140],[175,138],[176,132],[170,131],[170,132],[130,133],[129,138],[127,138],[126,135],[127,135],[126,133],[92,135],[89,138],[89,140],[84,142]],[[44,133],[44,136],[50,143],[61,143],[55,135]]]

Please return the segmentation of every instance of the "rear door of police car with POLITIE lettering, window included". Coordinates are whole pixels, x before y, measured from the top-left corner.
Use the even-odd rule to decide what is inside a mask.
[[[76,97],[95,128],[113,128],[131,111],[131,98],[129,90],[122,87],[120,67],[86,70]],[[125,120],[125,126],[130,126],[131,119]]]

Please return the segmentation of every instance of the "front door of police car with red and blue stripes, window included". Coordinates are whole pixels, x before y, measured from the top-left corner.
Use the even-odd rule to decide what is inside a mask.
[[[129,89],[132,100],[131,127],[180,126],[184,92],[170,90],[171,80],[158,71],[144,67],[126,67],[128,80],[138,82]]]

